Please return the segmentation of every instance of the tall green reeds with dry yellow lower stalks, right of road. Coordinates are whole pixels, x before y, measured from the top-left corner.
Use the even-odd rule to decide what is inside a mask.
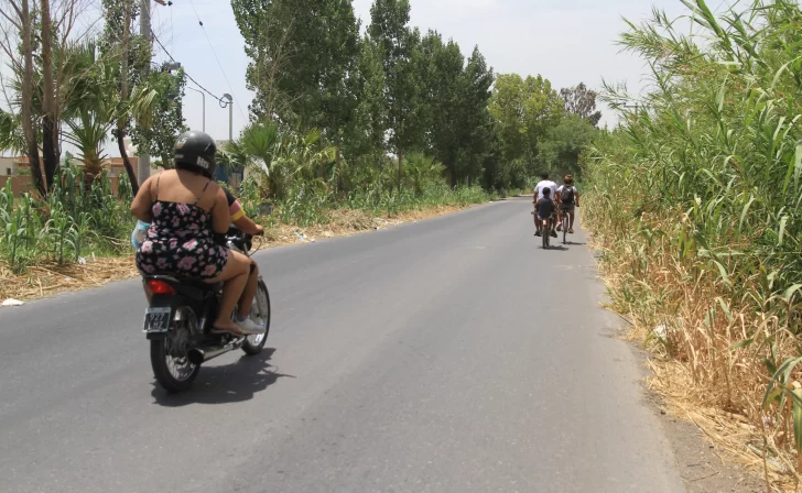
[[[685,18],[655,10],[621,36],[649,64],[650,90],[631,112],[607,87],[624,123],[588,156],[585,223],[615,308],[662,326],[648,333],[672,383],[743,420],[744,450],[758,443],[763,472],[798,484],[802,11],[683,3]]]

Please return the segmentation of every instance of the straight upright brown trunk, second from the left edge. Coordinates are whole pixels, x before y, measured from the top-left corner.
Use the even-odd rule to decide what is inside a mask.
[[[47,189],[53,187],[58,167],[58,131],[53,80],[53,25],[51,21],[50,0],[42,0],[42,78],[44,95],[42,97],[42,157]]]

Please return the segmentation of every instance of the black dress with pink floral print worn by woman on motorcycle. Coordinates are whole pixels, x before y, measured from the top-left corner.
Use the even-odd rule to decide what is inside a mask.
[[[156,198],[158,190],[156,185]],[[197,206],[198,200],[153,202],[148,239],[137,252],[137,267],[143,274],[171,273],[206,281],[223,272],[228,250],[215,242],[212,216]]]

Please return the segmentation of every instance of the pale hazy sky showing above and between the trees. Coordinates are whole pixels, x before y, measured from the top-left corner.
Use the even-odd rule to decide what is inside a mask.
[[[370,22],[372,0],[354,0],[354,10]],[[643,63],[620,53],[616,40],[626,30],[622,18],[641,21],[652,7],[670,17],[684,13],[680,0],[411,0],[410,24],[422,32],[438,31],[454,39],[467,56],[479,47],[497,74],[542,75],[553,87],[584,81],[599,88],[602,80],[626,83],[630,91],[642,87]],[[173,0],[172,7],[152,3],[152,25],[166,52],[186,73],[217,97],[234,97],[234,135],[248,121],[253,95],[246,88],[248,57],[242,36],[225,0]],[[203,26],[198,22],[203,22]],[[154,45],[156,62],[169,59]],[[192,83],[187,87],[196,86]],[[603,110],[603,124],[616,118]],[[184,116],[193,130],[203,128],[201,94],[184,97]],[[217,140],[228,139],[228,109],[206,96],[206,131]],[[116,154],[110,143],[107,152]]]

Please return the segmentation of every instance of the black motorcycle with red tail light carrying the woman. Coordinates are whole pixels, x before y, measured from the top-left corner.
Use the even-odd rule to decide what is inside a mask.
[[[251,255],[253,237],[231,226],[225,243]],[[249,336],[213,333],[219,311],[223,283],[207,284],[176,275],[147,275],[152,297],[142,331],[150,341],[150,359],[156,382],[171,393],[189,388],[201,365],[227,352],[241,349],[259,354],[270,332],[270,294],[261,274],[250,317],[264,332]]]

